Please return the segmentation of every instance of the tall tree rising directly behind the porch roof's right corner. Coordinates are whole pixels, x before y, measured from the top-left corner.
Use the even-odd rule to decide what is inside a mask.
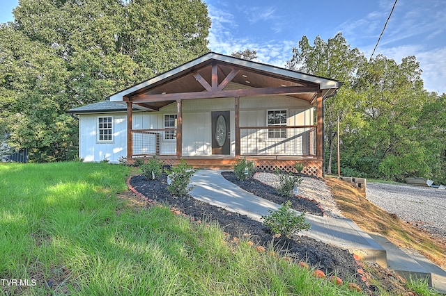
[[[359,49],[351,49],[342,33],[329,38],[327,42],[317,36],[313,46],[309,44],[308,38],[303,36],[298,45],[299,47],[293,48],[293,57],[286,67],[344,82],[337,96],[325,101],[325,138],[328,142],[328,149],[325,149],[328,154],[326,173],[331,174],[337,119],[339,117],[343,122],[346,117],[357,117],[353,113],[356,102],[351,84],[357,69],[366,60]]]

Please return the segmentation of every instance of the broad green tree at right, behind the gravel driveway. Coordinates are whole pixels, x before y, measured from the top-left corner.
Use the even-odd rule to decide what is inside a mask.
[[[358,71],[354,89],[362,125],[344,136],[348,167],[397,181],[432,176],[423,114],[430,99],[415,56],[400,64],[377,56]]]

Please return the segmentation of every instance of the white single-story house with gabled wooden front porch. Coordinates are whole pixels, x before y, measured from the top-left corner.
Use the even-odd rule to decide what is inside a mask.
[[[79,117],[79,157],[117,162],[157,156],[195,167],[238,158],[285,171],[297,162],[323,175],[323,101],[342,83],[209,52],[68,110]]]

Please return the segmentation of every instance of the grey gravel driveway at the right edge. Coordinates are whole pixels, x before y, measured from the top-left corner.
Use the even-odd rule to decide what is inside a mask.
[[[436,236],[446,236],[446,190],[430,187],[367,183],[367,199],[401,220]]]

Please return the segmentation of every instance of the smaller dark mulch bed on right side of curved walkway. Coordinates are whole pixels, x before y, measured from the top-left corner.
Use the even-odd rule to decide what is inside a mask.
[[[261,181],[256,179],[248,179],[245,181],[239,180],[236,177],[236,174],[234,174],[233,172],[222,172],[222,176],[224,177],[224,179],[231,181],[247,192],[251,192],[253,195],[268,199],[270,202],[275,202],[276,204],[284,204],[286,201],[290,200],[291,208],[294,208],[295,211],[310,213],[318,216],[323,215],[321,207],[314,200],[310,200],[305,197],[293,197],[292,199],[290,199],[289,197],[283,197],[279,194],[279,191],[277,191],[277,189],[268,186],[267,184],[262,183]]]

